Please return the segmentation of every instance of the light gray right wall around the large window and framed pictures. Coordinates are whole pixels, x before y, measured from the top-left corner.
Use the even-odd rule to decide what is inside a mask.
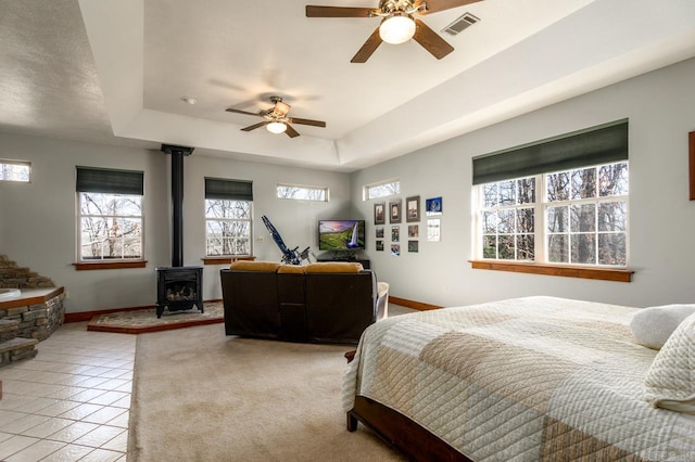
[[[556,105],[481,129],[352,175],[355,211],[368,218],[367,253],[379,280],[397,297],[457,306],[527,295],[556,295],[649,306],[695,303],[692,245],[695,202],[688,201],[687,133],[695,130],[695,60],[690,60]],[[484,90],[481,90],[484,91]],[[471,157],[630,119],[630,268],[633,282],[472,270]],[[417,118],[416,118],[417,119]],[[427,242],[420,221],[419,253],[375,252],[374,203],[362,189],[397,177],[400,197],[443,197],[442,240]],[[387,200],[388,202],[388,200]]]

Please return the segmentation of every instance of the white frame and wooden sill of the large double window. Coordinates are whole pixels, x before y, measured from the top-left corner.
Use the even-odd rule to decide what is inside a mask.
[[[564,277],[572,277],[572,278],[585,278],[585,279],[598,279],[598,280],[609,280],[609,281],[620,281],[620,282],[630,282],[632,279],[632,274],[634,271],[629,269],[630,266],[630,224],[629,224],[629,209],[630,209],[630,187],[628,182],[628,193],[627,194],[618,194],[610,196],[601,196],[598,191],[594,197],[590,198],[579,198],[579,200],[567,200],[567,201],[558,201],[558,202],[549,202],[547,198],[547,177],[549,175],[566,172],[573,170],[582,170],[585,168],[595,168],[599,171],[601,167],[606,165],[615,165],[615,164],[627,164],[627,171],[629,176],[629,161],[617,161],[609,163],[602,163],[596,165],[587,165],[584,167],[576,167],[571,169],[565,169],[559,171],[548,171],[541,172],[536,175],[526,176],[521,178],[510,178],[507,180],[498,180],[484,184],[476,184],[473,185],[472,193],[472,206],[473,206],[473,259],[470,261],[471,267],[475,269],[491,269],[491,270],[502,270],[502,271],[513,271],[513,272],[525,272],[525,273],[534,273],[534,274],[547,274],[547,275],[564,275]],[[534,224],[533,224],[533,241],[534,241],[534,260],[517,260],[517,259],[498,259],[498,258],[484,258],[483,257],[483,213],[485,208],[483,207],[483,190],[486,184],[501,183],[505,181],[518,181],[525,178],[534,178],[535,179],[535,202],[533,204],[515,204],[514,206],[502,207],[502,208],[530,208],[529,205],[532,205],[534,209]],[[629,178],[629,177],[628,177]],[[596,180],[598,184],[598,179]],[[597,185],[598,188],[598,185]],[[626,238],[626,265],[599,265],[596,264],[577,264],[572,262],[571,258],[568,262],[559,262],[559,261],[548,261],[547,255],[547,245],[548,245],[548,236],[552,234],[547,230],[547,210],[549,207],[553,207],[555,204],[559,206],[567,205],[571,207],[574,204],[601,204],[605,202],[624,202],[626,204],[626,229],[624,229],[624,238]],[[500,208],[500,207],[497,207]],[[490,209],[490,208],[488,208]],[[568,218],[569,219],[569,218]],[[571,233],[568,230],[568,234]],[[601,231],[595,229],[593,231],[594,235],[598,236]],[[515,233],[516,235],[516,233]],[[570,246],[571,254],[571,246]],[[596,246],[596,253],[598,252],[598,246]],[[595,261],[598,258],[596,257]]]

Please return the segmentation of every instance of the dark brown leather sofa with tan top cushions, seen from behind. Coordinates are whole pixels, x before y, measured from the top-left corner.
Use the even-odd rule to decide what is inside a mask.
[[[227,335],[355,344],[388,315],[389,284],[359,264],[236,261],[220,279]]]

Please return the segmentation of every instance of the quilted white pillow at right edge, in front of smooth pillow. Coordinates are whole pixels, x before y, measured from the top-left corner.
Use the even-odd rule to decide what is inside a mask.
[[[695,414],[695,315],[681,322],[644,381],[652,406]]]

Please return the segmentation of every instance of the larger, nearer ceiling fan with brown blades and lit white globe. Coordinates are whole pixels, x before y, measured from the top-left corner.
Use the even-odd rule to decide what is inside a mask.
[[[437,13],[478,1],[481,0],[380,0],[376,9],[307,4],[306,17],[382,17],[380,26],[350,60],[352,63],[366,63],[382,41],[397,44],[412,38],[441,60],[454,51],[454,47],[413,15]]]

